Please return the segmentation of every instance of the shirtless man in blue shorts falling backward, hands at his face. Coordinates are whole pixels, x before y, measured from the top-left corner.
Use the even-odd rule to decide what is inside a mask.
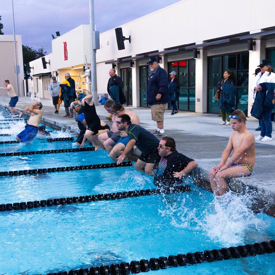
[[[30,118],[25,126],[25,130],[20,132],[16,139],[20,142],[30,142],[32,141],[38,133],[39,123],[42,121],[42,103],[35,101],[31,106],[26,107],[24,111],[30,112]]]

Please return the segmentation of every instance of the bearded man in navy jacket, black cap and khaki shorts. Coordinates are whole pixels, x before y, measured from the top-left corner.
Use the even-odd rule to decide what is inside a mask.
[[[151,105],[152,120],[157,122],[156,137],[167,137],[163,121],[165,105],[169,102],[168,77],[166,71],[159,66],[156,57],[147,62],[151,74],[147,84],[147,104]]]

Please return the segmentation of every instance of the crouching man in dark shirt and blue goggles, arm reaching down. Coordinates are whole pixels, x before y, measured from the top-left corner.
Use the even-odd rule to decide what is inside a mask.
[[[141,151],[135,169],[145,170],[149,175],[154,175],[154,166],[159,162],[160,156],[158,152],[159,140],[152,133],[148,132],[139,125],[131,123],[130,116],[123,114],[118,117],[117,128],[125,131],[129,137],[123,153],[118,157],[117,164],[120,164],[125,156],[133,149],[134,145]]]

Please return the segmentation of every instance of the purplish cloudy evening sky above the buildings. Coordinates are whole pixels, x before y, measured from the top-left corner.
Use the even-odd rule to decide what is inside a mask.
[[[95,24],[99,32],[164,8],[179,0],[94,0]],[[13,34],[12,1],[1,0],[0,16],[5,35]],[[51,52],[51,34],[64,34],[89,24],[89,0],[13,0],[15,32],[22,35],[22,44]],[[149,26],[148,26],[149,27]]]

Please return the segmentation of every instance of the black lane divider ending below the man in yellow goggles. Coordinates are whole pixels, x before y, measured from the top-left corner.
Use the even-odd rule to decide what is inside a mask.
[[[171,193],[182,193],[190,192],[190,185],[176,186],[174,188],[163,188],[163,189],[146,189],[146,190],[134,190],[128,192],[117,192],[117,193],[106,193],[106,194],[97,194],[97,195],[86,195],[80,197],[67,197],[67,198],[57,198],[57,199],[48,199],[40,200],[33,202],[15,202],[0,204],[0,211],[10,211],[10,210],[24,210],[32,209],[37,207],[46,207],[53,205],[64,205],[64,204],[73,204],[73,203],[84,203],[84,202],[95,202],[101,200],[119,200],[126,199],[131,197],[140,197],[156,194],[171,194]]]

